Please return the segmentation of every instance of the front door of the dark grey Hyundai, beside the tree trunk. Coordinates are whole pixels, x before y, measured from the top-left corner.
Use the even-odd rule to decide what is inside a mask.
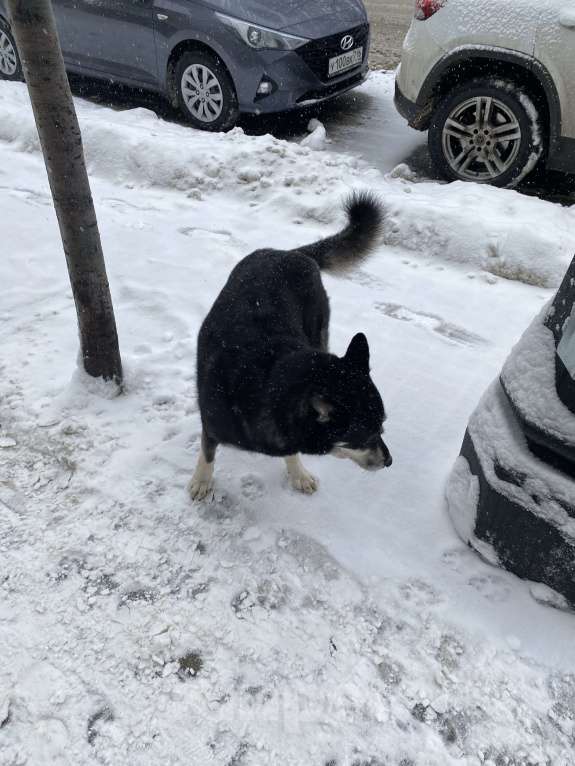
[[[70,69],[157,83],[154,0],[55,0],[54,9]]]

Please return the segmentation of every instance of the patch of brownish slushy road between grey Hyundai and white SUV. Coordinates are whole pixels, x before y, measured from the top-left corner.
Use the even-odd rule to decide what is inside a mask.
[[[371,65],[394,69],[413,17],[415,0],[364,0],[372,25]]]

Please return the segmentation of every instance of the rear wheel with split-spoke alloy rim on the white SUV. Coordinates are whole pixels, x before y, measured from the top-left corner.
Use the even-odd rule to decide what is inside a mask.
[[[531,97],[514,83],[472,80],[440,102],[428,145],[436,171],[448,181],[513,187],[535,169],[544,133]]]

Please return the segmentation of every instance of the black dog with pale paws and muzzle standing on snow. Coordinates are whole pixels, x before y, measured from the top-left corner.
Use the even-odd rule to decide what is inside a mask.
[[[348,457],[362,468],[391,465],[381,434],[385,410],[369,375],[369,347],[356,335],[343,358],[328,353],[329,301],[320,270],[365,258],[382,225],[367,193],[346,203],[349,222],[297,250],[258,250],[233,269],[198,338],[202,446],[190,483],[212,488],[218,444],[285,458],[292,486],[317,481],[298,453]]]

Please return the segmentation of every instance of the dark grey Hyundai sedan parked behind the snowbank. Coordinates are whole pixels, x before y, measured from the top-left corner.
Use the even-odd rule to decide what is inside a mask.
[[[197,128],[317,104],[361,84],[362,0],[53,0],[70,72],[167,96]],[[0,0],[0,79],[22,78]]]

